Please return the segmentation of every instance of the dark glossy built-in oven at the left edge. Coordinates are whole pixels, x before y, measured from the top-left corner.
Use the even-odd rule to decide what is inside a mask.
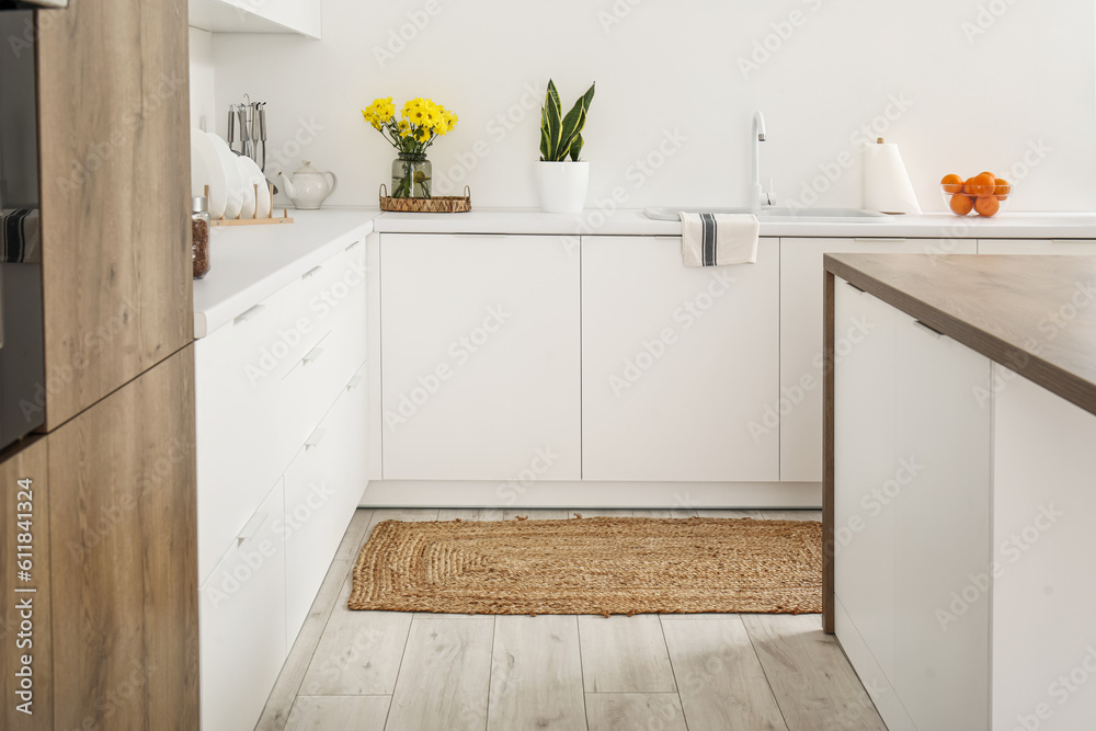
[[[2,2],[3,0],[0,0]],[[0,4],[0,449],[45,421],[37,78],[33,10]],[[57,7],[39,0],[20,3]]]

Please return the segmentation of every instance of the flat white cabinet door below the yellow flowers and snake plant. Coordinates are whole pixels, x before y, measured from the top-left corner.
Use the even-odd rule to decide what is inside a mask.
[[[385,479],[506,480],[534,460],[579,479],[578,239],[386,233],[380,248]]]

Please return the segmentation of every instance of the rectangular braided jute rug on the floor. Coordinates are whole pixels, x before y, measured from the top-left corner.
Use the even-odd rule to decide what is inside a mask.
[[[822,524],[594,517],[376,526],[351,609],[453,614],[822,610]]]

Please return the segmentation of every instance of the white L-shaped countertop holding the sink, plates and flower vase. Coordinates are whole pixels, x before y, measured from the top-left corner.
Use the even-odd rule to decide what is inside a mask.
[[[677,221],[639,209],[545,214],[530,208],[479,208],[465,214],[392,214],[378,208],[295,210],[287,226],[214,228],[213,269],[194,283],[194,336],[204,338],[295,277],[372,231],[381,233],[516,233],[680,236]],[[781,238],[1096,239],[1096,214],[1003,213],[959,218],[947,213],[865,221],[766,221],[761,235]]]

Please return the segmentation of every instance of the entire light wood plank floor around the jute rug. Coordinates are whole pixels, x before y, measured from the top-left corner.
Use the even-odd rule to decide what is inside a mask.
[[[813,511],[591,511],[821,519]],[[567,511],[358,510],[259,721],[261,731],[886,730],[820,615],[468,616],[350,612],[381,521]]]

